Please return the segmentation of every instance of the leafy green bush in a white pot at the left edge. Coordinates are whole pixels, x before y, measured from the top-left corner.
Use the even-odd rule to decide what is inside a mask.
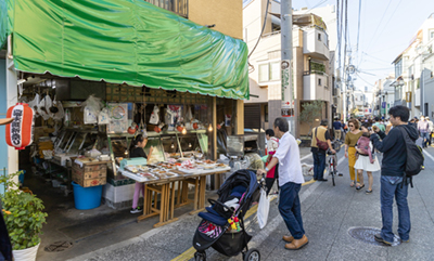
[[[42,224],[46,223],[47,213],[42,212],[43,204],[40,198],[31,193],[17,190],[13,182],[22,171],[0,178],[4,184],[4,194],[0,195],[4,222],[11,238],[15,261],[36,260],[40,245]]]

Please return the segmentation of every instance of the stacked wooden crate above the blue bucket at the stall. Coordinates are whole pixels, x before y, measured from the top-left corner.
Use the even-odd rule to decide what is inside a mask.
[[[73,181],[82,187],[99,186],[106,183],[107,165],[91,164],[84,165],[82,168],[75,164],[73,165]]]

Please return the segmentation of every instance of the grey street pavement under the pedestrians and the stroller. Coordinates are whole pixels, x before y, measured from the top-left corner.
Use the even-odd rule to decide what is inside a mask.
[[[339,153],[339,171],[344,177],[336,178],[336,186],[332,185],[329,177],[328,182],[310,181],[302,187],[303,221],[309,244],[297,251],[284,249],[282,236],[289,232],[279,214],[277,199],[273,199],[268,223],[263,230],[259,230],[253,211],[246,214],[247,232],[254,236],[248,247],[257,248],[261,260],[270,261],[434,260],[434,148],[424,149],[425,170],[413,179],[414,187],[409,187],[410,243],[394,247],[368,244],[348,234],[348,230],[354,227],[381,229],[380,171],[373,173],[371,195],[365,194],[367,183],[365,188],[356,191],[349,186],[347,159],[343,151]],[[302,149],[302,162],[311,164],[311,157],[305,156],[307,152]],[[397,234],[396,205],[394,211],[394,232]],[[193,260],[192,238],[200,221],[196,216],[184,214],[177,222],[71,260]],[[207,260],[242,260],[242,256],[228,258],[208,249]]]

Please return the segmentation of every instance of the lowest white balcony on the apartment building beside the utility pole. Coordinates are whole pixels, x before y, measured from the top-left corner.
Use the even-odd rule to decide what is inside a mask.
[[[330,88],[328,88],[327,84],[326,75],[305,71],[303,76],[303,100],[330,102],[330,99],[328,99],[330,97]]]

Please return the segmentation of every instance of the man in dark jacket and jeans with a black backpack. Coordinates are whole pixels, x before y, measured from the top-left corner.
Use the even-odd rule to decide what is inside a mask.
[[[410,242],[410,210],[408,208],[408,181],[404,180],[406,170],[407,147],[400,128],[407,131],[412,141],[418,139],[418,130],[408,125],[409,109],[406,106],[394,106],[388,110],[391,122],[394,128],[385,135],[384,132],[375,129],[371,133],[373,146],[383,154],[381,166],[381,216],[383,227],[381,233],[374,236],[376,242],[392,245],[394,242],[393,229],[393,201],[396,200],[398,207],[398,234],[404,243]],[[379,136],[380,135],[380,136]],[[382,141],[380,141],[380,138]]]

